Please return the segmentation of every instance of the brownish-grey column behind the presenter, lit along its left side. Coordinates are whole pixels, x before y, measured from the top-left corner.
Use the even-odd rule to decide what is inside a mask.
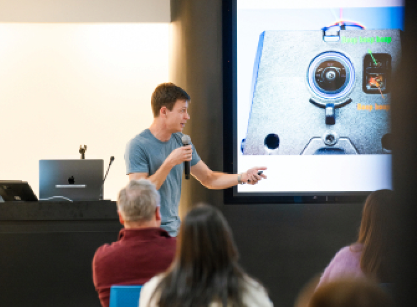
[[[171,21],[169,79],[191,96],[184,133],[209,168],[222,171],[221,0],[171,0]],[[180,210],[198,202],[220,205],[223,192],[184,180]]]

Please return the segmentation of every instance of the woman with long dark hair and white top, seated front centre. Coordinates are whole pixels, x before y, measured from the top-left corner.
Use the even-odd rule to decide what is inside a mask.
[[[170,268],[144,285],[139,307],[271,307],[264,288],[237,259],[220,211],[198,205],[181,224]]]

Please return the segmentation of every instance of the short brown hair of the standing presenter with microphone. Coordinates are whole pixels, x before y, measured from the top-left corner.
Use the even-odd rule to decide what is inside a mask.
[[[159,116],[159,110],[162,106],[166,106],[168,110],[172,111],[177,100],[189,101],[190,96],[179,86],[173,83],[159,84],[154,93],[152,93],[151,105],[154,117]]]

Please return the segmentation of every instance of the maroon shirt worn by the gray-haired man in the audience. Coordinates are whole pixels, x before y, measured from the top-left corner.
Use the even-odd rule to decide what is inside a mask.
[[[116,242],[101,246],[93,258],[93,282],[102,306],[108,307],[112,285],[143,285],[166,270],[175,243],[161,228],[123,228]]]

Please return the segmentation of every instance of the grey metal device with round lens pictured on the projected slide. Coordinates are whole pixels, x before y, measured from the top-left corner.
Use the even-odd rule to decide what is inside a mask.
[[[391,29],[263,32],[243,153],[389,153],[400,46]]]

